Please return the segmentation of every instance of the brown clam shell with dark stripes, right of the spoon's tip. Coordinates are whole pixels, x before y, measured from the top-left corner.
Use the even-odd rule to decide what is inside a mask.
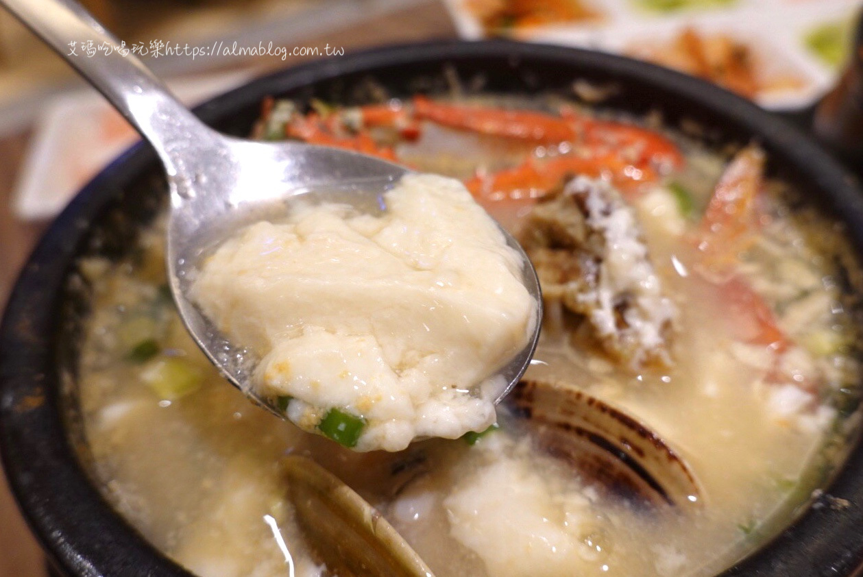
[[[645,423],[562,382],[524,379],[506,404],[539,446],[597,486],[636,505],[699,505],[702,491],[683,458]]]

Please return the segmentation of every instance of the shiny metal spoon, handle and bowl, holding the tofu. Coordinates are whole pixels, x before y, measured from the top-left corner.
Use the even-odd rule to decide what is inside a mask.
[[[0,5],[66,59],[149,141],[167,171],[171,215],[167,267],[173,297],[186,328],[230,382],[279,417],[281,411],[249,387],[249,351],[229,342],[187,298],[202,254],[244,224],[284,214],[286,204],[337,195],[355,205],[376,205],[407,169],[384,160],[299,142],[246,141],[205,126],[167,90],[124,43],[72,0],[0,0]],[[93,56],[82,52],[91,43]],[[78,47],[78,50],[73,48]],[[77,55],[75,53],[77,52]],[[345,197],[344,195],[349,195]],[[539,338],[539,279],[526,254],[523,282],[535,299],[532,338],[498,373],[505,397],[525,372]]]

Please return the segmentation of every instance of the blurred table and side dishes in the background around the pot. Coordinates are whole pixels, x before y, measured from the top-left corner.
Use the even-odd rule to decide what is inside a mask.
[[[769,110],[811,111],[846,68],[861,0],[83,0],[187,103],[315,58],[506,36],[624,53]],[[241,55],[232,47],[268,47]],[[165,46],[183,47],[169,53]],[[194,58],[190,47],[219,46]],[[284,49],[284,56],[280,49]],[[90,58],[88,47],[70,47]],[[315,51],[318,55],[314,55]],[[174,51],[176,52],[176,50]],[[304,54],[305,53],[305,54]],[[338,58],[337,55],[329,58]],[[863,58],[863,54],[860,55]],[[804,115],[805,116],[805,115]],[[0,306],[47,223],[136,136],[65,60],[0,9]],[[0,480],[0,577],[44,575]]]

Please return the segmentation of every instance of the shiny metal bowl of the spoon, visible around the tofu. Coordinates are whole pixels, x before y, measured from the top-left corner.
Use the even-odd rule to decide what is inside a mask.
[[[215,161],[203,159],[192,176],[168,178],[171,213],[167,227],[167,267],[180,317],[198,346],[221,369],[231,384],[247,397],[284,418],[284,411],[250,387],[259,357],[237,346],[188,298],[198,272],[198,263],[222,241],[251,223],[279,220],[293,205],[309,202],[350,204],[367,212],[380,211],[381,198],[402,176],[404,166],[339,148],[296,142],[243,141],[213,133]],[[186,166],[201,162],[190,158]],[[222,192],[222,194],[219,194]],[[498,373],[506,386],[495,393],[495,402],[507,396],[530,364],[539,341],[542,298],[539,278],[523,248],[513,235],[500,228],[507,245],[522,257],[521,282],[538,310],[533,332],[525,348]]]

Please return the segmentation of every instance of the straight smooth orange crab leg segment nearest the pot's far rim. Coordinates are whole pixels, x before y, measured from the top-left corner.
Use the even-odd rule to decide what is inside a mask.
[[[541,144],[573,141],[577,134],[570,122],[532,110],[506,110],[485,106],[439,103],[427,97],[413,97],[413,114],[454,129],[483,135],[504,136]]]

